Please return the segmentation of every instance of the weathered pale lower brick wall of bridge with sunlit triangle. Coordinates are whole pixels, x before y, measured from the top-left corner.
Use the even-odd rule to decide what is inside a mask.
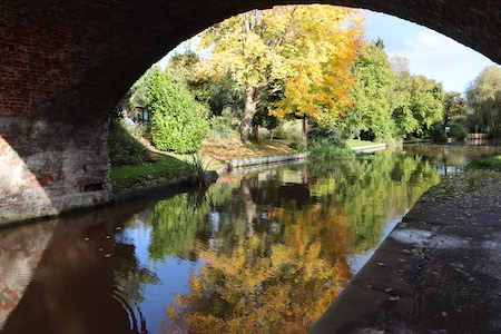
[[[0,223],[110,197],[106,124],[0,117]]]

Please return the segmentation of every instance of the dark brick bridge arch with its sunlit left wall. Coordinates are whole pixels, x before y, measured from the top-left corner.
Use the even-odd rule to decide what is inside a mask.
[[[0,0],[0,223],[108,202],[106,119],[128,87],[213,23],[307,2]],[[407,19],[501,62],[498,0],[320,2]]]

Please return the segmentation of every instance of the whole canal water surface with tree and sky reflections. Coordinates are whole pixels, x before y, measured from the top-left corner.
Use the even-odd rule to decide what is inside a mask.
[[[441,175],[411,145],[0,229],[0,333],[305,333]]]

